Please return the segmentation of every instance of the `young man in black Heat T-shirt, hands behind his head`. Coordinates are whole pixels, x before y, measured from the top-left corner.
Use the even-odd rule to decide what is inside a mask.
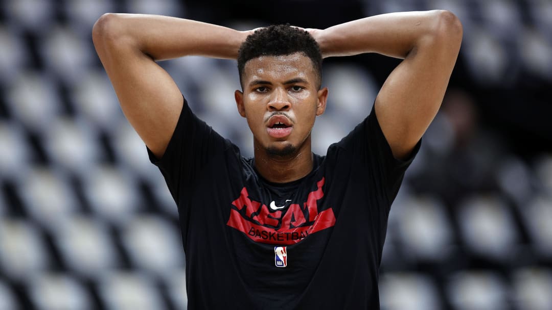
[[[379,308],[389,208],[439,109],[461,37],[447,11],[244,32],[103,15],[94,45],[178,205],[188,307]],[[404,61],[370,115],[326,156],[312,154],[311,128],[328,96],[322,57],[365,52]],[[155,62],[186,55],[237,58],[235,100],[253,133],[254,158],[195,117]]]

